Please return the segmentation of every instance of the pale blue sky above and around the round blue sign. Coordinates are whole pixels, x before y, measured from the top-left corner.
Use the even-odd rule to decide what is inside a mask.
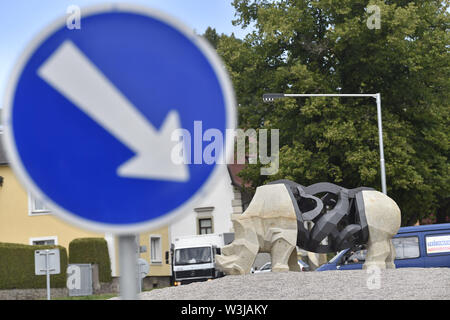
[[[121,0],[162,10],[180,19],[197,33],[208,26],[218,33],[246,33],[234,27],[232,0]],[[0,0],[0,107],[11,70],[28,42],[55,19],[66,15],[70,5],[81,8],[105,3],[102,0]]]

